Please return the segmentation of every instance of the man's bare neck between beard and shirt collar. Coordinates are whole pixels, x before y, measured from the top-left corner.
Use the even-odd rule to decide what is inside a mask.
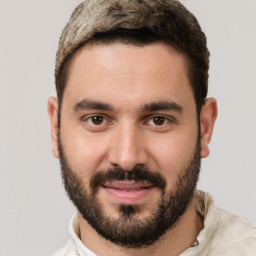
[[[127,249],[103,239],[80,214],[78,217],[83,244],[99,256],[178,256],[193,246],[199,232],[203,229],[203,221],[196,212],[194,199],[174,228],[168,230],[153,245],[139,249]]]

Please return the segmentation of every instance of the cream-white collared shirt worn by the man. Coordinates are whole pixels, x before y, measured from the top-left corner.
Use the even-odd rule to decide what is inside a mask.
[[[180,256],[256,256],[256,225],[248,220],[215,207],[209,193],[196,191],[196,209],[204,218],[199,244]],[[79,239],[77,216],[69,225],[71,239],[52,256],[96,256]]]

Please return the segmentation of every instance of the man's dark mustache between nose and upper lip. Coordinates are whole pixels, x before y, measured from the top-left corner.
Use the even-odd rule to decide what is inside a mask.
[[[106,182],[113,181],[147,181],[162,190],[166,187],[166,179],[159,172],[152,172],[145,167],[138,166],[128,171],[120,167],[97,171],[90,179],[90,187],[95,191]]]

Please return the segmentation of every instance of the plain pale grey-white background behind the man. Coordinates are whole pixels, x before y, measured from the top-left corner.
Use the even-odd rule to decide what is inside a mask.
[[[46,102],[60,32],[80,0],[0,0],[0,255],[50,255],[74,208],[51,154]],[[219,117],[199,188],[256,222],[256,1],[183,0],[211,52]]]

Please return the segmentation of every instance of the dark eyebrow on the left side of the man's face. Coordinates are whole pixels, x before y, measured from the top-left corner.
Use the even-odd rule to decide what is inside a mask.
[[[75,112],[78,112],[80,110],[90,110],[90,109],[114,111],[114,108],[107,103],[89,100],[89,99],[83,99],[82,101],[78,102],[74,106]]]

